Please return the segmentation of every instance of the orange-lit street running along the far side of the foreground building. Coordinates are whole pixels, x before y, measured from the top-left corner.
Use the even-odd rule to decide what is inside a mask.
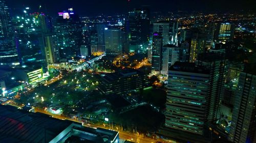
[[[78,123],[81,123],[77,120],[74,120],[74,119],[71,119],[71,118],[68,118],[68,117],[64,117],[64,116],[60,116],[60,115],[55,115],[53,113],[50,113],[48,111],[45,111],[45,110],[41,110],[41,109],[38,109],[38,108],[35,108],[35,112],[41,112],[41,113],[45,113],[47,115],[50,115],[51,117],[53,118],[57,118],[57,119],[60,119],[60,120],[70,120],[70,121],[73,121],[73,122],[78,122]],[[109,127],[105,127],[104,125],[102,124],[86,124],[84,126],[87,126],[87,127],[91,127],[91,128],[97,128],[97,127],[100,127],[100,128],[105,128],[105,129],[109,129]],[[131,140],[131,141],[134,141],[135,142],[135,134],[134,133],[131,133],[131,132],[126,132],[126,131],[121,131],[121,130],[118,130],[119,132],[119,138],[120,139],[123,139],[123,140]],[[161,141],[163,143],[167,143],[167,142],[175,142],[173,140],[168,140],[168,141],[164,141],[163,139],[152,139],[152,138],[147,138],[147,137],[143,137],[142,135],[136,135],[136,142],[137,143],[151,143],[151,142],[157,142],[157,141]]]

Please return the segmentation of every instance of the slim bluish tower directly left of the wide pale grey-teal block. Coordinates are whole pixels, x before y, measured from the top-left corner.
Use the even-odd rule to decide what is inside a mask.
[[[106,29],[106,25],[103,23],[99,23],[96,25],[96,31],[98,36],[98,52],[105,52],[105,38],[104,31]]]

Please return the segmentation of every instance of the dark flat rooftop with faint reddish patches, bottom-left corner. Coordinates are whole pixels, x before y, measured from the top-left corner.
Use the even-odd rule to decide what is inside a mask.
[[[0,142],[49,142],[72,122],[0,105]]]

